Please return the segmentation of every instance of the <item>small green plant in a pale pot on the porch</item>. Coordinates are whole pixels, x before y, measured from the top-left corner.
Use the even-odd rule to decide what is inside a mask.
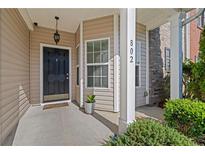
[[[95,108],[95,95],[88,95],[85,102],[85,113],[92,114]]]

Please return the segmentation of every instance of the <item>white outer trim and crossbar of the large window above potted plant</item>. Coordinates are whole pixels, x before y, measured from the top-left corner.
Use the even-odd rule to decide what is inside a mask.
[[[87,63],[87,43],[94,42],[94,41],[101,41],[101,40],[108,40],[108,62],[107,63]],[[88,79],[87,79],[87,66],[93,65],[108,65],[108,87],[88,87]],[[98,39],[91,39],[85,40],[85,88],[86,89],[100,89],[100,90],[107,90],[110,89],[110,37],[98,38]]]

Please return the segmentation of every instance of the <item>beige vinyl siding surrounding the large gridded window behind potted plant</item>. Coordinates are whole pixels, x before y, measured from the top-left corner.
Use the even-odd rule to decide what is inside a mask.
[[[85,41],[100,38],[110,38],[110,57],[109,57],[109,85],[107,89],[93,89],[84,87],[84,99],[88,94],[96,95],[96,109],[113,111],[113,77],[114,77],[114,66],[113,66],[113,56],[114,56],[114,40],[113,40],[113,16],[105,16],[97,19],[84,21],[83,24],[83,39],[84,39],[84,49]],[[85,50],[84,50],[85,51]],[[84,57],[85,52],[84,52]],[[84,59],[84,62],[86,59]],[[86,64],[84,65],[86,67]],[[85,70],[86,68],[84,68]],[[87,77],[84,72],[84,86],[86,86]]]

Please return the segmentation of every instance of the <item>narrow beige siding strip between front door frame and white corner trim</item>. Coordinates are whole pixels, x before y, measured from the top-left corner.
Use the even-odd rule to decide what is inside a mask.
[[[78,29],[75,33],[76,60],[77,60],[77,46],[78,45],[80,45],[80,26],[78,26]],[[76,64],[77,64],[77,62],[76,62]],[[76,69],[76,72],[77,72],[77,67],[75,69]],[[80,72],[80,70],[79,70],[79,72]],[[77,74],[76,74],[76,80],[77,80]],[[80,102],[80,87],[77,86],[77,81],[75,82],[75,86],[76,86],[76,91],[75,91],[76,92],[76,98],[75,98],[75,100],[79,103]]]

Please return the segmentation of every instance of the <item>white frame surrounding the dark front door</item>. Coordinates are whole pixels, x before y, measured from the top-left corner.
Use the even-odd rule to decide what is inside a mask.
[[[61,101],[52,101],[52,102],[43,102],[43,47],[50,47],[50,48],[58,48],[58,49],[66,49],[69,51],[69,100],[61,100]],[[59,46],[59,45],[51,45],[51,44],[45,44],[45,43],[40,43],[40,104],[45,105],[45,104],[56,104],[56,103],[61,103],[65,101],[71,101],[72,98],[72,75],[71,75],[71,47],[66,47],[66,46]]]

